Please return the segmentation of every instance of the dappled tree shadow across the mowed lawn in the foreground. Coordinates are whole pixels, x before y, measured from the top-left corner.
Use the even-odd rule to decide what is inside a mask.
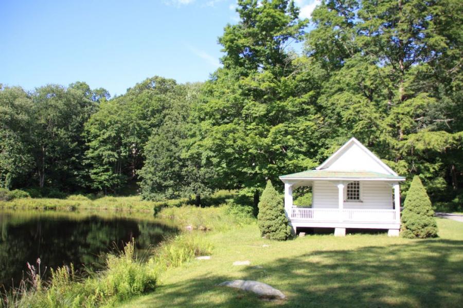
[[[301,244],[304,242],[301,241]],[[164,307],[460,307],[463,302],[463,241],[315,251],[241,270],[241,279],[279,288],[286,301],[218,287],[236,278],[208,273],[201,279],[160,286],[143,304]],[[224,265],[225,266],[225,265]],[[228,265],[226,265],[228,266]]]

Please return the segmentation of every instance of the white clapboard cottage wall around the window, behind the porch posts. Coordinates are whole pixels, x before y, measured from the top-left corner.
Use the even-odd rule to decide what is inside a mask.
[[[344,200],[346,200],[346,186]],[[314,181],[312,188],[312,207],[337,208],[338,190],[336,183],[330,181]],[[344,208],[392,209],[393,193],[388,183],[380,181],[360,181],[362,202],[344,202]]]

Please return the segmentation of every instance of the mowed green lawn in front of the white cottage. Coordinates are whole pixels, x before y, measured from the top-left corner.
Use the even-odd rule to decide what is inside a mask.
[[[168,269],[153,293],[122,306],[461,307],[463,223],[437,222],[440,237],[428,240],[355,234],[275,242],[260,238],[256,224],[211,232],[210,260]],[[251,265],[232,265],[244,260]],[[287,300],[217,286],[233,279],[268,283]]]

